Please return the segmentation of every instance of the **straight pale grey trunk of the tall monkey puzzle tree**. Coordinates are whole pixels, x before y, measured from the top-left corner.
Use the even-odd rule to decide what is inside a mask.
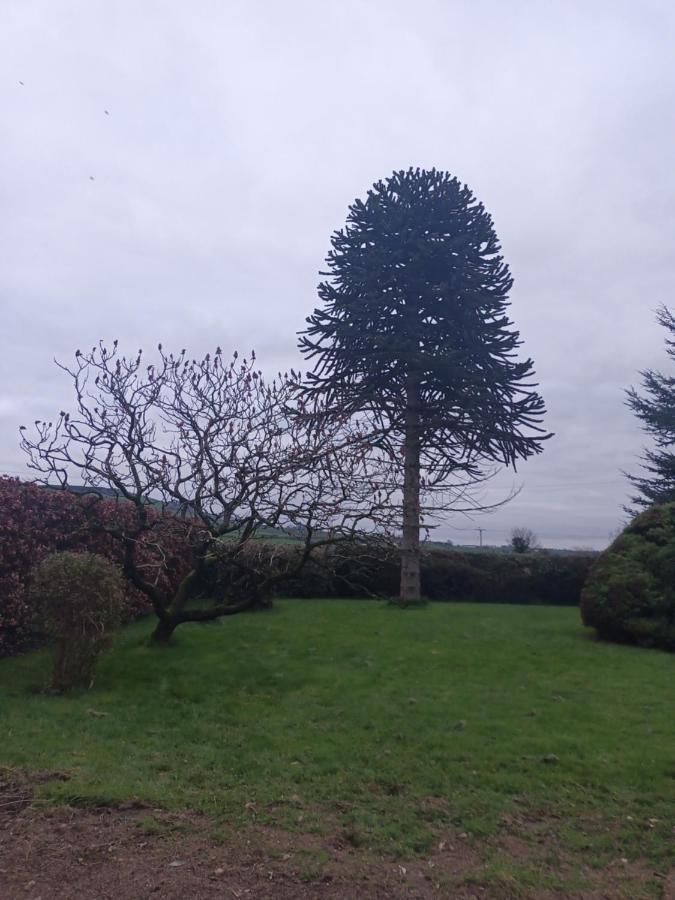
[[[403,457],[403,535],[401,541],[401,606],[419,601],[420,581],[420,379],[406,378]]]

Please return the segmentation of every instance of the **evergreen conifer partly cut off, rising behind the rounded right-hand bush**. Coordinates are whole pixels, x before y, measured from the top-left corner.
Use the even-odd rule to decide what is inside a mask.
[[[662,306],[656,321],[666,329],[666,353],[675,361],[675,317]],[[655,447],[645,450],[642,460],[644,475],[627,475],[638,493],[631,497],[634,508],[626,512],[634,515],[653,503],[675,500],[675,377],[654,369],[640,372],[644,393],[634,387],[626,391],[626,405],[642,422],[643,430],[654,438]]]

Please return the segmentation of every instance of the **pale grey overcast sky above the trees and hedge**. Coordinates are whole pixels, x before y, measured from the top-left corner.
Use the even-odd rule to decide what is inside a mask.
[[[53,357],[296,334],[349,203],[447,169],[492,213],[556,433],[441,537],[602,547],[675,306],[672,0],[2,0],[0,471],[70,400]]]

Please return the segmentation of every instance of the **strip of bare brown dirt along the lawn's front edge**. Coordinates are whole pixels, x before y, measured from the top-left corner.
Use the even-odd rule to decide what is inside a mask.
[[[54,773],[49,775],[54,777]],[[224,832],[204,817],[138,807],[41,804],[32,782],[0,773],[2,900],[191,900],[191,898],[556,898],[630,897],[639,869],[596,873],[582,893],[523,891],[484,878],[485,863],[462,836],[410,861],[373,856],[339,836],[289,834],[252,826]],[[501,849],[525,862],[528,845],[506,835]],[[484,882],[484,883],[481,883]],[[592,883],[592,881],[591,881]],[[675,878],[663,876],[664,900]]]

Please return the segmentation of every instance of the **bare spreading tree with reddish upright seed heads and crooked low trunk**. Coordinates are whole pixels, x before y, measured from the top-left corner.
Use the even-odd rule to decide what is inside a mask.
[[[364,533],[386,539],[395,479],[386,457],[369,452],[367,423],[308,427],[295,373],[268,383],[255,354],[226,362],[220,348],[201,360],[161,344],[158,351],[149,365],[141,351],[121,355],[117,342],[77,351],[74,365],[60,366],[75,388],[75,412],[36,421],[32,434],[22,429],[41,481],[69,489],[77,478],[93,497],[109,488],[133,511],[109,532],[124,546],[126,576],[152,603],[157,641],[182,622],[256,605],[317,547]],[[190,551],[170,592],[137,553],[156,535],[159,568],[170,567],[161,555],[167,529]],[[267,529],[292,534],[294,551],[271,560],[258,540]],[[194,603],[215,565],[217,594]]]

